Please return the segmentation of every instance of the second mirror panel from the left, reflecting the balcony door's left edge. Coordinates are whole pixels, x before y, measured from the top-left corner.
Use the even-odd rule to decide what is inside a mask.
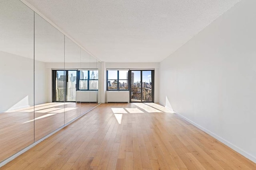
[[[35,13],[34,43],[35,141],[38,141],[64,125],[64,35]],[[53,80],[55,95],[52,101]]]

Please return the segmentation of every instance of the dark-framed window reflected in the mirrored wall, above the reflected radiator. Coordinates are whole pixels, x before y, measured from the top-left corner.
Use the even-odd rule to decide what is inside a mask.
[[[78,90],[98,90],[98,70],[80,70]]]

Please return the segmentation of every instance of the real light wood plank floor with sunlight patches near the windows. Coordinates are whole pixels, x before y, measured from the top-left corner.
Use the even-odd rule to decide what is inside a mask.
[[[101,104],[1,170],[256,169],[156,104]]]

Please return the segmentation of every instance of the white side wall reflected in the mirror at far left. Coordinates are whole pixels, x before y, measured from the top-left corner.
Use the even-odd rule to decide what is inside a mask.
[[[35,61],[35,104],[44,103],[44,63]],[[0,51],[0,112],[34,105],[34,60]]]

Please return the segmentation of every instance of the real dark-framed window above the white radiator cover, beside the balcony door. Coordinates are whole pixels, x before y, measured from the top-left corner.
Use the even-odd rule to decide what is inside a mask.
[[[107,70],[107,90],[128,90],[128,70]]]

